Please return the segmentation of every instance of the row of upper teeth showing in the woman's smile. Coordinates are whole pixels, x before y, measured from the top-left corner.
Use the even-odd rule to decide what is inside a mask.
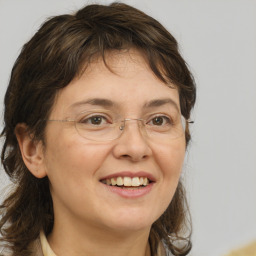
[[[138,187],[138,186],[147,186],[149,180],[146,177],[115,177],[111,179],[102,180],[103,183],[112,186],[125,186],[125,187]]]

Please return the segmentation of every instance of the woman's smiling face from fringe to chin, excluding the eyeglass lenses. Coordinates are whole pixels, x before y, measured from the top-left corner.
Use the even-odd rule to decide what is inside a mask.
[[[111,53],[107,61],[113,72],[101,60],[91,63],[59,92],[49,119],[74,119],[84,111],[133,119],[180,115],[177,89],[156,78],[138,52]],[[98,125],[109,120],[89,121]],[[166,120],[158,121],[148,122],[158,126]],[[127,121],[119,138],[96,142],[81,137],[72,122],[48,122],[43,168],[50,180],[55,220],[115,231],[150,228],[173,198],[185,137],[153,139],[140,127],[141,121]],[[126,185],[138,185],[143,178],[150,184],[123,188],[111,186],[110,178],[125,180]]]

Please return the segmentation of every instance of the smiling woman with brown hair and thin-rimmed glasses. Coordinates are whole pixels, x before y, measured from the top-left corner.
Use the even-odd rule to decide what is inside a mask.
[[[8,252],[187,255],[180,174],[195,95],[176,40],[131,6],[45,22],[5,95]]]

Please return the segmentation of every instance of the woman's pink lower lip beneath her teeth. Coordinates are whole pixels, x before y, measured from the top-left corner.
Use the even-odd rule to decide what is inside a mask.
[[[102,183],[103,184],[103,183]],[[138,198],[138,197],[143,197],[145,195],[147,195],[152,187],[153,187],[154,183],[150,183],[145,187],[142,188],[121,188],[121,187],[116,187],[116,186],[109,186],[106,184],[103,184],[110,192],[115,193],[121,197],[124,198]]]

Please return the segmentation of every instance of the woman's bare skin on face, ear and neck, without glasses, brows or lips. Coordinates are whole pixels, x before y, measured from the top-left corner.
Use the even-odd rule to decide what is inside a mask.
[[[144,104],[169,98],[180,111],[177,89],[155,77],[136,51],[110,53],[111,72],[102,60],[62,89],[50,119],[73,118],[90,105],[74,104],[104,98],[124,118],[140,118]],[[167,104],[156,111],[174,108]],[[155,109],[154,109],[155,111]],[[38,178],[48,176],[54,205],[54,227],[48,237],[57,255],[150,255],[148,236],[152,223],[168,207],[176,190],[185,156],[185,137],[153,141],[141,133],[136,121],[126,125],[122,136],[108,142],[82,138],[73,123],[49,122],[45,146],[32,142],[25,126],[16,129],[24,162]],[[145,171],[155,178],[149,193],[123,198],[106,189],[102,177],[116,172]]]

